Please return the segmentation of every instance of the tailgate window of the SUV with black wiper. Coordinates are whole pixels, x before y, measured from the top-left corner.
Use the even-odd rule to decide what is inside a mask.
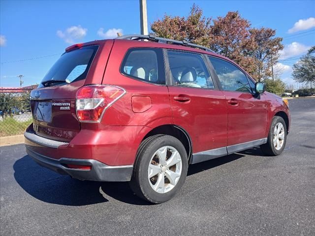
[[[87,46],[64,53],[45,75],[40,87],[85,79],[97,48]]]

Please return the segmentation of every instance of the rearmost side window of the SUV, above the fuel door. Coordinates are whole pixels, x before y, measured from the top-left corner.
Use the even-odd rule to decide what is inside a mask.
[[[163,56],[160,49],[130,49],[121,66],[124,75],[149,83],[165,85]]]

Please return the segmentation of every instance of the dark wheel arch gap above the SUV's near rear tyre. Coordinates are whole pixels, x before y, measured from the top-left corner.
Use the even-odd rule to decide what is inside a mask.
[[[153,128],[149,133],[147,133],[143,140],[157,134],[170,135],[181,141],[186,149],[188,160],[190,161],[190,157],[192,155],[192,142],[189,133],[183,127],[173,124],[160,125]]]

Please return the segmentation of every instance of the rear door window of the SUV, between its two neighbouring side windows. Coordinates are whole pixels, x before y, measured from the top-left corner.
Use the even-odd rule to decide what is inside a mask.
[[[172,85],[214,89],[207,66],[199,54],[168,51]]]

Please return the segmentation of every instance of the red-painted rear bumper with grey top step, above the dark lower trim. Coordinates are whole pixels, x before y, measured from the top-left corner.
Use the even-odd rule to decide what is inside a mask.
[[[70,142],[61,142],[37,135],[31,124],[24,134],[25,146],[52,159],[90,159],[108,166],[133,166],[137,149],[151,130],[146,126],[89,125],[95,127],[81,127]]]

